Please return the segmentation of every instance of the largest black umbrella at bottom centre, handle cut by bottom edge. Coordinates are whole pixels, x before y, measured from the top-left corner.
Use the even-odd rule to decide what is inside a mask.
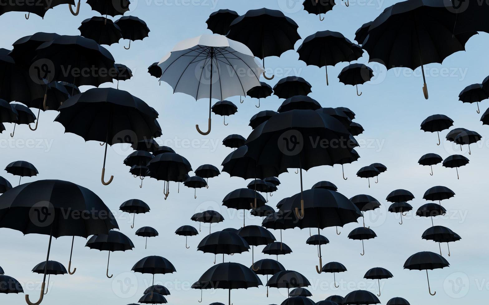
[[[263,285],[251,269],[238,263],[221,263],[210,267],[199,278],[192,288],[196,289],[228,289],[229,305],[231,289],[251,288]]]

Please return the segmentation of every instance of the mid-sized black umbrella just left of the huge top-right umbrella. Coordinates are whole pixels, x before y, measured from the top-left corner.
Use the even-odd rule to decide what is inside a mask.
[[[326,84],[329,85],[328,66],[342,61],[356,61],[363,50],[339,32],[321,31],[306,37],[297,53],[299,60],[307,65],[326,67]]]

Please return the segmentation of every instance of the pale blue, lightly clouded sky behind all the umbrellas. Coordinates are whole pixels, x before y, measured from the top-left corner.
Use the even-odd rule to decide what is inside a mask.
[[[216,1],[216,0],[214,0]],[[378,2],[380,1],[380,2]],[[157,139],[160,144],[173,147],[183,155],[196,169],[203,163],[211,163],[221,169],[224,157],[232,150],[222,145],[222,139],[229,134],[238,133],[246,137],[251,128],[247,126],[250,117],[259,110],[276,110],[282,101],[272,96],[262,100],[260,109],[255,108],[257,100],[247,98],[243,104],[239,97],[230,98],[238,106],[238,113],[227,118],[228,126],[222,125],[222,117],[213,115],[213,128],[208,136],[201,136],[195,130],[195,124],[205,125],[207,121],[207,101],[195,101],[184,94],[172,94],[171,87],[166,83],[158,86],[158,81],[147,73],[147,67],[159,61],[173,46],[181,40],[210,33],[206,29],[205,20],[210,13],[218,9],[232,9],[244,14],[249,9],[266,6],[270,9],[281,9],[299,25],[298,32],[302,38],[321,30],[332,30],[343,33],[354,40],[356,29],[363,23],[374,20],[383,9],[392,5],[394,0],[350,0],[350,7],[337,0],[332,12],[319,21],[315,15],[302,10],[302,1],[233,1],[233,0],[137,0],[131,4],[131,15],[145,20],[151,29],[148,38],[131,43],[130,50],[124,50],[127,41],[120,41],[108,49],[116,62],[126,64],[133,71],[133,79],[119,84],[119,88],[131,92],[141,98],[159,112],[158,122],[163,136]],[[126,13],[126,15],[129,15]],[[80,22],[99,16],[82,1],[80,14],[72,16],[66,5],[58,6],[47,12],[44,20],[31,15],[25,20],[23,13],[7,13],[0,17],[3,28],[0,47],[11,49],[17,39],[35,32],[56,32],[58,34],[79,35],[77,30]],[[117,18],[116,18],[117,19]],[[297,41],[295,49],[301,41]],[[455,305],[474,304],[488,296],[488,264],[486,243],[487,200],[485,191],[486,173],[489,169],[487,157],[489,152],[488,126],[483,126],[480,114],[476,113],[475,104],[462,104],[458,101],[459,92],[467,85],[483,81],[489,74],[489,34],[481,33],[472,37],[466,45],[467,52],[459,52],[448,57],[443,64],[425,66],[429,89],[429,100],[422,95],[421,70],[414,73],[407,69],[393,69],[388,72],[376,63],[371,63],[377,75],[370,83],[360,86],[363,92],[357,97],[355,88],[339,83],[335,77],[347,63],[339,63],[329,67],[330,85],[325,86],[324,68],[306,67],[297,61],[298,54],[288,51],[280,58],[267,58],[267,67],[276,69],[276,77],[266,81],[273,86],[280,78],[299,75],[312,85],[310,96],[324,107],[349,107],[356,113],[356,122],[365,128],[358,136],[362,147],[358,149],[361,158],[358,162],[345,166],[348,181],[341,178],[340,166],[321,166],[304,173],[304,186],[328,180],[338,186],[338,191],[347,197],[357,194],[369,194],[377,198],[382,206],[375,213],[366,213],[368,225],[377,233],[378,238],[365,242],[365,256],[360,256],[361,243],[347,238],[348,233],[361,224],[348,224],[336,235],[334,228],[322,231],[331,242],[323,246],[323,264],[338,261],[348,271],[336,275],[340,287],[334,288],[332,274],[317,274],[314,268],[318,264],[316,248],[305,244],[309,237],[308,230],[294,229],[283,233],[284,242],[293,253],[279,257],[279,261],[287,269],[304,274],[311,282],[308,287],[315,302],[324,300],[332,294],[345,296],[356,289],[368,289],[377,293],[377,282],[363,279],[365,272],[376,266],[387,268],[394,278],[381,281],[382,296],[380,301],[386,304],[392,297],[404,297],[411,304]],[[368,62],[364,55],[359,62]],[[263,81],[263,80],[262,80]],[[104,84],[112,86],[113,84]],[[82,90],[87,88],[82,87]],[[489,106],[487,101],[481,103],[481,113]],[[33,109],[34,111],[34,109]],[[35,111],[37,114],[37,110]],[[425,153],[437,153],[443,158],[451,154],[459,154],[458,147],[449,142],[437,146],[436,134],[420,131],[420,123],[429,115],[445,114],[455,121],[454,127],[464,127],[479,132],[483,141],[471,146],[472,155],[468,155],[467,147],[463,154],[470,160],[467,166],[460,168],[460,180],[457,180],[455,169],[447,169],[441,164],[434,167],[434,176],[429,175],[429,167],[418,164],[418,159]],[[84,142],[79,136],[64,134],[61,124],[53,122],[57,112],[48,111],[41,114],[39,128],[30,131],[26,125],[17,126],[15,138],[9,133],[12,124],[5,124],[7,131],[1,134],[0,145],[2,163],[25,160],[33,163],[39,175],[23,178],[22,182],[38,179],[61,179],[86,186],[111,208],[118,217],[121,231],[129,236],[135,245],[133,251],[115,252],[111,254],[110,272],[112,279],[105,276],[107,252],[90,250],[85,247],[86,240],[75,238],[73,266],[77,267],[74,275],[51,277],[49,293],[44,297],[43,304],[72,305],[104,304],[126,305],[137,303],[144,289],[151,285],[151,275],[134,274],[133,264],[148,255],[161,255],[170,260],[176,267],[174,274],[156,275],[155,280],[171,291],[167,297],[168,304],[200,304],[200,290],[190,289],[200,275],[211,267],[212,254],[197,252],[196,247],[207,234],[208,226],[202,226],[200,235],[189,238],[190,249],[185,248],[184,237],[174,234],[184,224],[198,228],[198,223],[190,221],[190,217],[198,211],[215,209],[222,213],[225,221],[213,225],[212,231],[226,227],[239,228],[243,223],[242,211],[227,210],[221,206],[222,198],[239,187],[245,187],[249,181],[241,178],[229,178],[226,173],[210,179],[209,189],[198,189],[197,199],[193,198],[194,190],[180,185],[177,193],[176,183],[170,185],[170,196],[163,200],[163,183],[156,180],[144,180],[143,188],[139,188],[139,179],[129,174],[129,167],[123,165],[124,158],[132,150],[122,145],[115,145],[108,151],[106,176],[114,175],[109,186],[100,183],[103,147],[98,142]],[[442,132],[444,137],[447,131]],[[35,144],[32,144],[32,143]],[[27,144],[26,144],[27,143]],[[379,183],[372,183],[369,189],[366,179],[355,176],[356,171],[365,165],[380,162],[388,167],[387,172],[379,177]],[[3,168],[2,167],[2,168]],[[193,175],[193,173],[190,173]],[[17,185],[18,177],[6,172],[1,176]],[[275,204],[286,196],[300,190],[299,175],[290,170],[289,174],[279,177],[282,184],[268,204]],[[426,203],[422,195],[426,189],[434,185],[445,185],[451,188],[456,196],[442,205],[448,210],[447,216],[435,219],[435,225],[444,225],[456,233],[462,240],[450,245],[451,257],[446,255],[446,244],[442,245],[449,268],[429,271],[432,291],[427,291],[426,274],[424,271],[403,270],[405,260],[418,251],[438,252],[438,244],[421,239],[422,232],[431,222],[429,219],[413,218],[408,213],[404,224],[399,225],[399,214],[387,213],[389,203],[385,197],[397,188],[410,190],[416,197],[411,202],[417,209]],[[135,228],[131,229],[132,215],[118,211],[119,205],[132,198],[145,201],[151,207],[149,214],[137,215]],[[261,224],[261,218],[246,216],[246,224]],[[134,235],[134,231],[150,225],[157,229],[159,236],[148,240],[148,249],[144,249],[144,238]],[[279,231],[272,231],[279,239]],[[27,235],[10,229],[0,229],[1,255],[0,265],[7,275],[19,280],[31,300],[39,296],[42,275],[31,272],[32,267],[45,259],[48,237],[44,235]],[[70,237],[62,237],[53,241],[52,260],[59,261],[67,267],[69,258]],[[261,253],[263,246],[255,249],[255,260],[262,258],[275,259]],[[251,265],[251,253],[234,255],[225,258],[247,266]],[[266,282],[265,277],[261,277]],[[286,289],[271,288],[266,297],[266,288],[240,289],[231,292],[235,305],[245,304],[281,304],[286,298]],[[0,295],[1,304],[25,304],[23,294]],[[202,304],[222,302],[227,304],[227,291],[204,290]]]

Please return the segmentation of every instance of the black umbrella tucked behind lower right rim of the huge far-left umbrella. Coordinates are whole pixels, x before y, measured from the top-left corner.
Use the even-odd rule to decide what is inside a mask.
[[[109,251],[109,258],[107,259],[107,272],[109,276],[109,261],[111,259],[111,252],[114,251],[127,251],[134,248],[133,242],[126,235],[119,231],[110,230],[109,234],[97,234],[90,237],[89,241],[85,245],[90,249],[97,249],[100,251]]]

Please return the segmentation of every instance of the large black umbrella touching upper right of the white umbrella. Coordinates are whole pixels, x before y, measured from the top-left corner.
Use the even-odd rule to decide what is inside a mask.
[[[280,56],[287,50],[293,50],[294,44],[300,39],[297,34],[299,26],[284,13],[267,8],[249,10],[236,18],[229,25],[226,36],[229,39],[243,42],[256,57]],[[263,72],[267,80],[268,78]]]

